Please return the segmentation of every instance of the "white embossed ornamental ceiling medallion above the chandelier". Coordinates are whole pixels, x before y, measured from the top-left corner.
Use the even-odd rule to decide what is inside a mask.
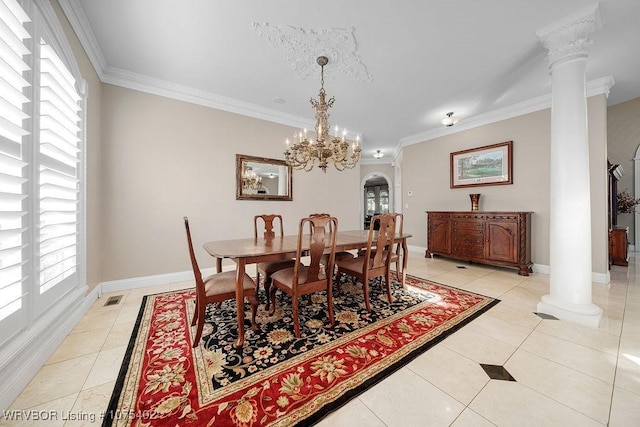
[[[329,58],[328,77],[370,82],[371,74],[358,55],[354,28],[304,29],[289,25],[253,23],[253,28],[273,46],[284,49],[287,61],[302,80],[318,78],[319,56]]]

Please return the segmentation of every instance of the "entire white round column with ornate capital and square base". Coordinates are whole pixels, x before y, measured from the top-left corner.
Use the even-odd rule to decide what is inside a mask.
[[[587,37],[600,26],[596,4],[537,33],[551,72],[550,292],[537,309],[594,328],[602,310],[591,302],[586,65]]]

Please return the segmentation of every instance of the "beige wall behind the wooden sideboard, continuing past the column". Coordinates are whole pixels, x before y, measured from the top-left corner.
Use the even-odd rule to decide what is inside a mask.
[[[592,171],[593,271],[607,272],[606,240],[606,99],[589,99],[589,139]],[[412,246],[426,247],[429,210],[469,210],[470,193],[481,193],[485,211],[531,211],[532,261],[549,265],[549,144],[550,110],[435,138],[404,147],[402,204],[404,229]],[[513,184],[449,188],[449,155],[504,141],[513,141]],[[407,192],[413,196],[408,197]],[[408,206],[408,207],[407,207]],[[576,215],[580,215],[576,212]]]

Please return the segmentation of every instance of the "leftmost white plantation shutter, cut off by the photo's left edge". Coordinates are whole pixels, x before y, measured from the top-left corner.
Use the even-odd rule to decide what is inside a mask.
[[[23,138],[29,115],[24,78],[29,17],[15,0],[0,1],[0,343],[25,324],[27,178]]]

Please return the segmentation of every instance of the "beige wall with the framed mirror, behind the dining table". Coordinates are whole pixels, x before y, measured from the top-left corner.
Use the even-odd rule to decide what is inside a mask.
[[[111,85],[102,114],[103,281],[188,270],[185,215],[201,268],[202,243],[252,237],[256,214],[282,214],[286,233],[313,212],[359,228],[357,167],[294,171],[290,202],[235,199],[235,155],[282,159],[288,126]]]

